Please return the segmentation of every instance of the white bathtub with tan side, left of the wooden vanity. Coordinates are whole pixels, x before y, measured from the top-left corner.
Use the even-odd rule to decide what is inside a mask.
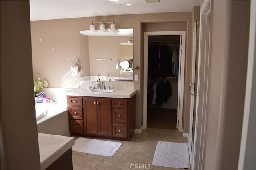
[[[62,104],[36,104],[38,133],[70,136],[68,110]]]

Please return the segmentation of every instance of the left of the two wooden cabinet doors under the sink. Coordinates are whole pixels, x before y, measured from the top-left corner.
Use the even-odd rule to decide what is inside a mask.
[[[97,126],[97,100],[84,98],[84,133],[98,134]]]

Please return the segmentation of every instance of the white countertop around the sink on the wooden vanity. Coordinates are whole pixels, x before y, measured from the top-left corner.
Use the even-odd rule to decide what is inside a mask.
[[[87,88],[76,88],[74,90],[70,90],[66,92],[68,96],[92,96],[92,97],[105,97],[105,98],[131,98],[134,94],[136,94],[136,90],[128,90],[128,89],[114,89],[114,92],[110,93],[93,93],[89,92]]]

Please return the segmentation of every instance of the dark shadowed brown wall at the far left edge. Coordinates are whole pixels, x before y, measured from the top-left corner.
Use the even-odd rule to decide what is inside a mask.
[[[1,170],[40,170],[29,1],[1,1]]]

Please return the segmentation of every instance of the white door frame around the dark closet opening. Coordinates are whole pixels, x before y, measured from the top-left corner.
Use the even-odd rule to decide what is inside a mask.
[[[143,126],[142,126],[142,129],[147,128],[148,36],[157,36],[157,35],[180,35],[180,45],[181,45],[180,56],[181,57],[179,57],[177,128],[178,128],[178,131],[183,132],[182,116],[183,116],[183,98],[184,98],[186,31],[144,32],[144,67],[143,67],[144,78],[143,78]]]

